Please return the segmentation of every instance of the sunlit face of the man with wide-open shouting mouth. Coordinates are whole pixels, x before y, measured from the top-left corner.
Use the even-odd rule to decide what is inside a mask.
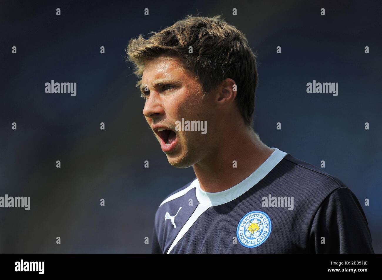
[[[154,128],[168,162],[186,168],[202,160],[208,151],[213,117],[213,98],[202,98],[202,88],[192,73],[177,60],[159,56],[147,62],[142,75],[146,96],[143,114]],[[144,91],[144,88],[146,90]],[[176,121],[207,121],[206,134],[201,131],[176,131]],[[162,130],[165,129],[165,130]]]

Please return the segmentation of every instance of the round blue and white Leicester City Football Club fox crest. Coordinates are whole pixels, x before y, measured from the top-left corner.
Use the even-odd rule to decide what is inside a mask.
[[[254,248],[267,240],[271,230],[269,216],[262,211],[252,211],[240,220],[236,235],[241,245]]]

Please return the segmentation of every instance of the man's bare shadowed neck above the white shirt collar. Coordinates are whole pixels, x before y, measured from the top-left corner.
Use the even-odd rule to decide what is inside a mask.
[[[251,175],[274,152],[251,128],[241,127],[220,141],[219,149],[193,165],[205,192],[221,192]],[[236,161],[236,167],[235,163]]]

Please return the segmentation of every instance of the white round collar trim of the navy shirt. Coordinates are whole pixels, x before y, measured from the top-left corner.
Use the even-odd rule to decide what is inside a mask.
[[[205,192],[200,188],[199,181],[196,178],[189,187],[196,188],[196,198],[199,203],[207,206],[217,206],[230,202],[235,198],[240,197],[244,192],[255,186],[262,178],[264,178],[287,154],[277,148],[272,148],[275,151],[262,163],[251,175],[241,181],[236,186],[233,186],[222,192]]]

